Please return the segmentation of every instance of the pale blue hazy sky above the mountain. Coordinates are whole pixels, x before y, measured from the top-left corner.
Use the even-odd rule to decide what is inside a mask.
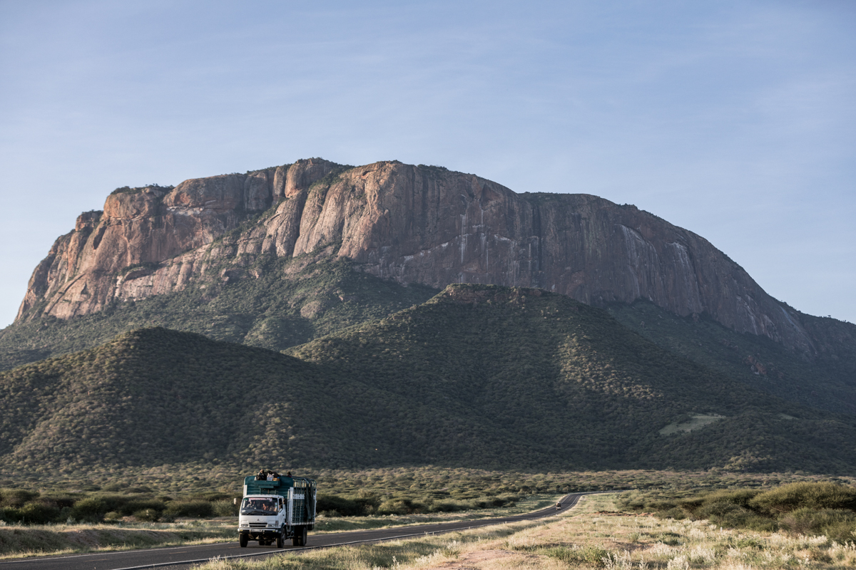
[[[114,188],[322,156],[633,203],[856,321],[856,2],[0,0],[0,326]]]

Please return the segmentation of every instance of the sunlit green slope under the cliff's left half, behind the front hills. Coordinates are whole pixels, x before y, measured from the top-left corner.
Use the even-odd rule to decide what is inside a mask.
[[[223,279],[213,271],[184,291],[112,303],[98,313],[63,320],[17,320],[0,331],[0,370],[85,350],[146,326],[199,332],[209,338],[283,350],[340,328],[377,319],[437,294],[355,271],[324,253],[259,258],[255,279]]]

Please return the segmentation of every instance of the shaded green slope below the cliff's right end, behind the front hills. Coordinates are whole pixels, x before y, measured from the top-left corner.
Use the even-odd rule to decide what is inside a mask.
[[[856,414],[856,326],[803,315],[815,335],[826,335],[817,356],[788,350],[770,338],[736,332],[707,314],[681,317],[646,301],[611,303],[609,313],[676,356],[683,356],[792,402]]]

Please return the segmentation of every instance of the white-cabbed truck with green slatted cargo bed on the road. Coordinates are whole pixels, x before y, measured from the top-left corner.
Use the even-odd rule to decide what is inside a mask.
[[[316,497],[314,479],[245,477],[238,516],[241,548],[255,540],[259,546],[276,543],[276,548],[281,549],[288,538],[293,546],[306,546],[306,534],[315,527]]]

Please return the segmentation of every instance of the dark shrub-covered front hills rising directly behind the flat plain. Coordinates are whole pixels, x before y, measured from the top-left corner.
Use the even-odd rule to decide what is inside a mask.
[[[856,467],[853,422],[764,396],[544,291],[452,285],[291,353],[152,328],[0,373],[0,462]]]

